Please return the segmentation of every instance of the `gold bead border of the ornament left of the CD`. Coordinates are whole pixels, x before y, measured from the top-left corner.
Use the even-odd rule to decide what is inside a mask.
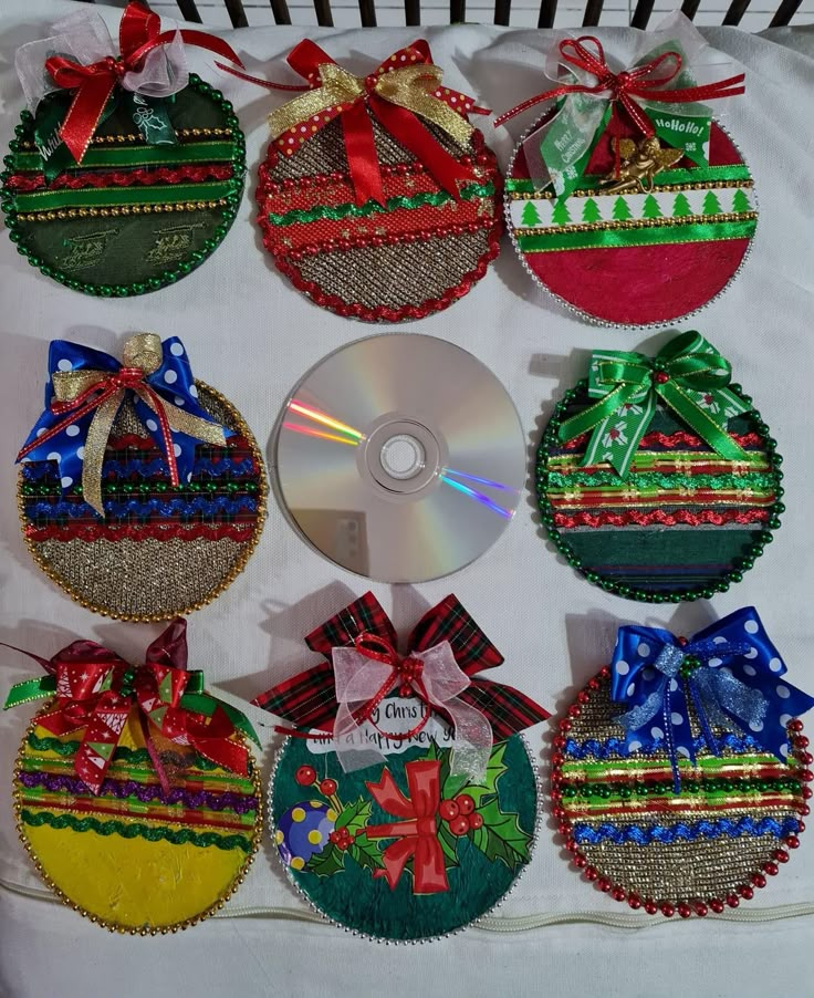
[[[194,613],[196,610],[200,610],[202,606],[206,606],[208,603],[211,603],[213,600],[217,600],[222,593],[226,592],[227,589],[234,582],[238,575],[243,571],[246,565],[249,562],[249,559],[254,553],[254,549],[260,543],[260,536],[263,532],[263,526],[265,524],[267,517],[267,501],[269,498],[269,482],[265,471],[265,464],[263,461],[263,456],[258,446],[257,440],[254,439],[254,435],[249,429],[246,419],[243,419],[242,415],[238,412],[238,409],[232,405],[231,402],[225,396],[221,395],[220,392],[207,385],[205,382],[198,381],[196,378],[195,382],[198,391],[204,393],[205,395],[209,395],[216,402],[218,402],[225,409],[229,418],[233,422],[234,428],[242,437],[246,438],[247,444],[249,445],[249,449],[251,450],[252,457],[258,464],[259,476],[258,476],[258,514],[257,514],[257,524],[254,530],[252,531],[251,538],[243,542],[243,550],[241,551],[240,558],[234,563],[232,569],[229,571],[227,576],[218,583],[202,600],[199,600],[197,603],[191,603],[188,606],[184,607],[173,607],[171,610],[163,611],[161,613],[154,614],[128,614],[128,613],[116,613],[106,606],[101,606],[96,603],[92,603],[90,600],[86,600],[83,593],[79,590],[75,590],[73,586],[69,585],[64,579],[61,578],[59,572],[55,572],[53,568],[45,561],[40,551],[38,550],[38,545],[30,541],[25,534],[25,528],[28,527],[28,519],[25,517],[25,506],[22,493],[22,485],[23,485],[23,469],[20,468],[17,479],[17,509],[20,518],[20,527],[22,530],[23,540],[25,542],[25,547],[29,549],[31,557],[36,562],[38,568],[45,574],[48,578],[58,585],[63,592],[67,593],[67,595],[75,602],[79,603],[80,606],[85,610],[90,610],[92,613],[98,613],[102,616],[111,617],[114,621],[126,621],[128,623],[137,623],[137,624],[153,624],[160,621],[171,620],[174,616],[184,615]]]

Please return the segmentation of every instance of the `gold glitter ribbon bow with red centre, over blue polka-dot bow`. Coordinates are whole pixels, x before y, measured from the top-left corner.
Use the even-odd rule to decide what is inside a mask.
[[[52,375],[54,401],[52,412],[66,413],[67,418],[53,427],[49,436],[55,436],[80,415],[95,409],[85,438],[85,458],[82,467],[82,492],[85,502],[104,517],[102,503],[102,462],[107,440],[119,407],[129,389],[156,414],[161,428],[167,462],[173,486],[178,486],[178,468],[175,460],[171,432],[186,434],[206,444],[223,446],[223,428],[191,413],[171,405],[149,386],[146,378],[154,374],[164,361],[161,339],[156,333],[131,336],[124,345],[123,365],[116,372],[55,371]],[[39,437],[35,444],[42,444]],[[23,451],[20,451],[22,455]]]

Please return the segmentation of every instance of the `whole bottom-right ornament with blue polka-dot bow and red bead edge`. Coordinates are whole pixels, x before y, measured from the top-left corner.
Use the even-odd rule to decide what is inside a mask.
[[[775,895],[813,779],[814,697],[785,673],[753,606],[691,638],[619,628],[553,740],[552,810],[588,883],[682,918]]]

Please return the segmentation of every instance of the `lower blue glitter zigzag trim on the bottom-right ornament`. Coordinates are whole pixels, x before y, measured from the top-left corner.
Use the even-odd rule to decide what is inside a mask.
[[[794,835],[800,830],[796,818],[784,818],[776,821],[774,818],[761,818],[754,820],[743,815],[737,821],[729,818],[720,818],[716,821],[695,821],[691,824],[679,822],[674,825],[645,825],[601,824],[596,828],[587,824],[574,824],[572,832],[580,845],[598,845],[601,842],[613,842],[623,845],[625,842],[635,842],[637,845],[649,845],[651,842],[685,841],[695,842],[696,839],[720,839],[723,836],[738,839],[741,835],[774,835],[784,839]]]

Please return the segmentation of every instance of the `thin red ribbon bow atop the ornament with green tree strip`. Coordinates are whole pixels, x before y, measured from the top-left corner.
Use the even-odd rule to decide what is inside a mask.
[[[596,49],[596,54],[587,48],[587,43]],[[679,87],[666,90],[665,86],[674,80],[681,70],[681,56],[678,52],[662,52],[656,59],[643,66],[625,70],[622,73],[613,73],[605,62],[605,50],[602,42],[591,34],[584,34],[577,39],[565,39],[560,42],[560,52],[563,60],[578,70],[584,70],[596,77],[596,83],[562,83],[553,90],[529,97],[511,111],[501,114],[494,122],[495,128],[514,117],[522,111],[551,101],[566,94],[602,94],[609,93],[614,110],[622,107],[634,125],[648,138],[655,134],[653,122],[647,116],[635,97],[655,101],[664,104],[688,104],[693,101],[712,101],[719,97],[734,97],[745,91],[743,73],[729,76],[727,80],[718,80],[702,86]],[[669,65],[671,63],[671,65]],[[659,72],[659,70],[661,72]]]

